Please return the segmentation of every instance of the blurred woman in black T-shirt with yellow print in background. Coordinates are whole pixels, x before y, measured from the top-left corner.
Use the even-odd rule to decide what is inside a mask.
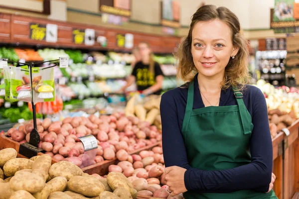
[[[144,95],[160,95],[163,82],[161,67],[153,60],[153,54],[148,43],[140,43],[138,49],[141,55],[141,61],[135,64],[132,74],[127,80],[127,85],[124,86],[120,92],[124,92],[136,82],[137,89],[140,93]]]

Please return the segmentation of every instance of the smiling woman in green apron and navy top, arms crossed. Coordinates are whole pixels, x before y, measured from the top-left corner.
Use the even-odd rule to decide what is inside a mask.
[[[263,93],[246,82],[248,49],[237,16],[200,7],[181,43],[178,78],[160,103],[165,181],[185,199],[277,199]]]

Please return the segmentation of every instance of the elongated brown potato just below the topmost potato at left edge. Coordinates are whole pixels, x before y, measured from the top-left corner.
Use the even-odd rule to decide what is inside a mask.
[[[5,149],[4,149],[5,150]],[[3,151],[3,150],[1,150]],[[15,172],[22,169],[31,169],[34,161],[26,158],[14,158],[8,160],[3,166],[4,175],[7,177],[13,176]]]

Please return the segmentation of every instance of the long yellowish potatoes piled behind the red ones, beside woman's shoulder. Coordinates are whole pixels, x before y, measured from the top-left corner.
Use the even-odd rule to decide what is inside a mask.
[[[138,100],[139,95],[134,95],[125,108],[126,116],[137,116],[142,121],[147,121],[162,129],[160,115],[161,96],[150,95],[144,100]]]

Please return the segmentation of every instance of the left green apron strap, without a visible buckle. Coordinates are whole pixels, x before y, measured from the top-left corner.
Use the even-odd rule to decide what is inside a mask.
[[[187,131],[188,123],[193,109],[193,99],[194,99],[194,80],[189,83],[188,97],[187,97],[187,104],[185,109],[185,116],[182,125],[182,132]]]

